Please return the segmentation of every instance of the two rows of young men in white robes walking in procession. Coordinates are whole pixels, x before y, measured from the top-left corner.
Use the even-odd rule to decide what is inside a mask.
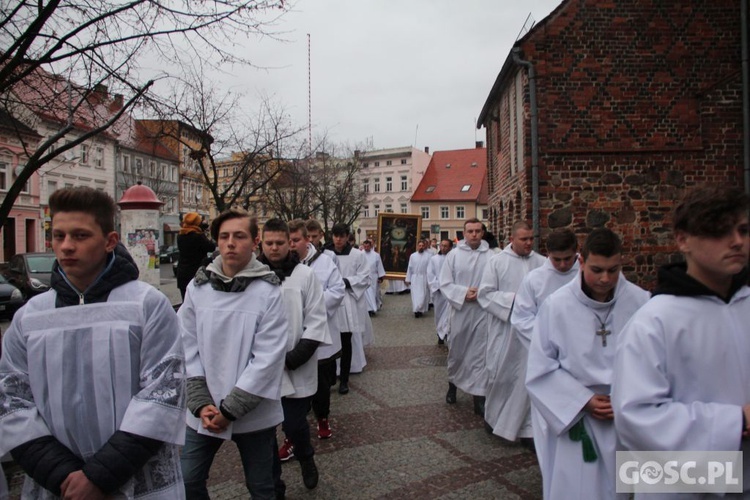
[[[626,278],[608,228],[535,245],[514,221],[495,251],[471,218],[455,245],[416,241],[402,283],[409,321],[434,311],[445,402],[470,395],[486,439],[534,450],[548,499],[622,495],[617,451],[750,451],[748,209],[736,188],[689,190],[672,221],[683,260],[652,293]],[[335,438],[331,391],[352,398],[377,343],[373,241],[227,210],[175,313],[138,280],[109,195],[60,189],[50,212],[52,290],[19,310],[0,358],[0,456],[25,472],[24,498],[209,498],[226,441],[251,498],[284,498],[292,458],[315,489],[311,436]],[[201,222],[184,221],[183,241]]]

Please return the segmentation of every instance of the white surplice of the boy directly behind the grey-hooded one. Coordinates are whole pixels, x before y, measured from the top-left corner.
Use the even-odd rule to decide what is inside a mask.
[[[281,292],[284,295],[284,308],[289,323],[287,352],[294,349],[302,339],[319,342],[318,348],[331,345],[323,287],[315,277],[315,271],[304,264],[297,264],[291,276],[287,276],[281,282]],[[281,379],[282,396],[304,398],[312,396],[317,390],[317,352],[294,370],[284,368]]]

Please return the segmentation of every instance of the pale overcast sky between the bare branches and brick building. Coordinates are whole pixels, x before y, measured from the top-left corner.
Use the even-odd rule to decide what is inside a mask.
[[[249,44],[267,70],[227,85],[282,102],[307,125],[311,37],[313,135],[370,149],[474,147],[474,123],[527,16],[561,0],[298,0],[277,31],[287,42]],[[244,107],[244,106],[243,106]]]

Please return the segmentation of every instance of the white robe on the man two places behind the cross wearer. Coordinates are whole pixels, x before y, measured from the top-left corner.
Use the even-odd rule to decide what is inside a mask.
[[[522,257],[508,245],[490,258],[479,286],[479,305],[489,313],[484,420],[495,435],[509,441],[532,437],[525,385],[528,349],[514,333],[510,313],[524,276],[544,262],[534,251]]]

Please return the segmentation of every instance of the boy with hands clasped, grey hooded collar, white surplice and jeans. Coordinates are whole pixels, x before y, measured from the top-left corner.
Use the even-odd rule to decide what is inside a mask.
[[[211,223],[219,255],[198,270],[178,316],[187,363],[185,491],[206,481],[225,440],[237,444],[253,498],[274,497],[276,426],[289,325],[279,278],[255,257],[257,225],[228,210]]]

